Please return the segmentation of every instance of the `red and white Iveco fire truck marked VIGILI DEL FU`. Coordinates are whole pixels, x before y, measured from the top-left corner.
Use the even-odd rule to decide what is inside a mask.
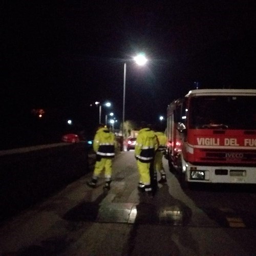
[[[191,90],[167,106],[166,135],[183,186],[256,184],[256,90]]]

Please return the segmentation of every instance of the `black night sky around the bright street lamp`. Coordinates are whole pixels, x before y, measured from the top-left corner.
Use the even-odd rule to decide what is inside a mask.
[[[124,62],[125,119],[137,122],[165,116],[195,82],[256,89],[255,1],[5,1],[2,11],[6,119],[42,108],[92,125],[90,104],[108,100],[121,121]],[[145,67],[132,61],[140,52]]]

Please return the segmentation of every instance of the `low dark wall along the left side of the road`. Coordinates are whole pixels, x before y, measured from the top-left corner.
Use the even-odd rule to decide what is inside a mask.
[[[89,172],[86,142],[0,151],[0,221]]]

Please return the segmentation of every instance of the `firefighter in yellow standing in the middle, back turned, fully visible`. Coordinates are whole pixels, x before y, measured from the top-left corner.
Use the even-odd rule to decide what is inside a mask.
[[[139,172],[138,189],[146,191],[148,195],[152,195],[150,165],[153,162],[157,147],[158,143],[154,132],[147,127],[145,122],[142,122],[135,145],[135,158]]]

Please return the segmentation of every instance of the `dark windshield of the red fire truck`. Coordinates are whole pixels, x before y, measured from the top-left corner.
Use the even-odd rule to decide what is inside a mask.
[[[256,97],[191,97],[188,121],[190,129],[256,130]]]

